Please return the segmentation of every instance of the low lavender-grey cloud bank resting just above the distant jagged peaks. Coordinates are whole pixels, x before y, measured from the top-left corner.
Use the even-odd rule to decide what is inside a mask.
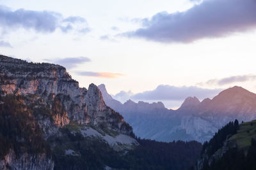
[[[189,96],[196,96],[199,99],[214,97],[222,89],[203,89],[200,87],[175,87],[170,85],[159,85],[156,89],[141,92],[131,96],[131,99],[137,100],[173,100],[180,101]]]

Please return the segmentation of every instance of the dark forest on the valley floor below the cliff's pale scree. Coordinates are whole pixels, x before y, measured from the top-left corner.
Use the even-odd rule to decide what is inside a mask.
[[[81,134],[71,134],[63,129],[61,138],[49,139],[56,143],[53,157],[55,169],[191,169],[202,148],[196,141],[157,142],[137,138],[140,145],[133,150],[116,152],[104,141],[84,138]],[[69,145],[79,156],[65,155],[61,148]]]

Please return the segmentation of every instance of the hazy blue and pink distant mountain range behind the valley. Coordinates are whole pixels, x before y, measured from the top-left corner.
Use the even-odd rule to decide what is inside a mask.
[[[178,110],[168,110],[161,103],[134,103],[130,100],[121,104],[109,97],[104,85],[99,89],[104,91],[106,104],[121,113],[140,138],[203,143],[232,120],[241,122],[256,118],[256,94],[237,86],[202,102],[196,97],[188,97]]]

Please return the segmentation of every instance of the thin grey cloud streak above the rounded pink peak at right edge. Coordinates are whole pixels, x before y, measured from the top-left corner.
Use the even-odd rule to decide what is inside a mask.
[[[248,74],[242,76],[230,76],[221,79],[212,79],[206,82],[208,85],[227,85],[230,83],[238,83],[238,82],[245,82],[245,81],[254,81],[256,80],[256,75]]]

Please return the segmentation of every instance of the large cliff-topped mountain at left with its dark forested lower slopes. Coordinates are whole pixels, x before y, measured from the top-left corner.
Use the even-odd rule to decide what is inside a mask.
[[[80,88],[62,66],[0,55],[0,169],[181,170],[201,148],[135,138],[96,85]]]

